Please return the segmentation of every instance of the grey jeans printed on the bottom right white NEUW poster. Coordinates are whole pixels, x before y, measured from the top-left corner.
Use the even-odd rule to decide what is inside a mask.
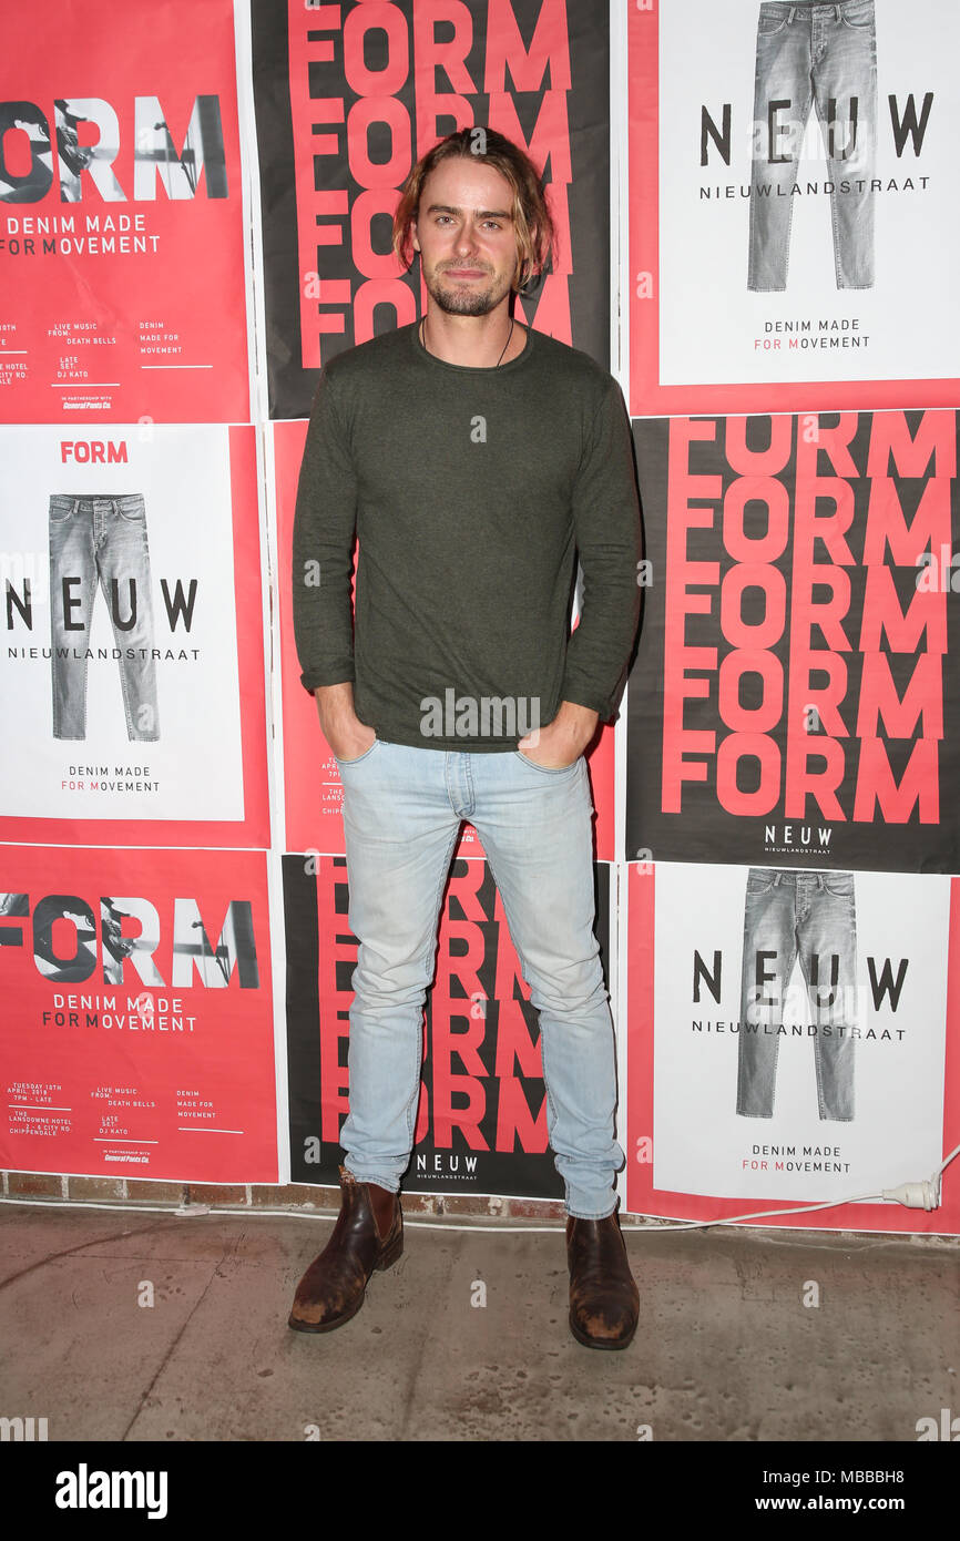
[[[750,868],[743,917],[737,1113],[772,1119],[783,1002],[794,965],[806,982],[821,1119],[854,1117],[857,906],[852,872]],[[787,1028],[789,1031],[789,1028]]]

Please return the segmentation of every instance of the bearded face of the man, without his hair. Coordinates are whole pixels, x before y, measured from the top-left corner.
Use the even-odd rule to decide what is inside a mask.
[[[455,316],[485,316],[510,294],[519,257],[513,193],[481,156],[451,156],[421,191],[413,247],[427,293]]]

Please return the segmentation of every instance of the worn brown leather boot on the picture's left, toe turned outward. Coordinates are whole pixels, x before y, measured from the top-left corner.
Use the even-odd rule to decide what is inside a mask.
[[[341,1167],[341,1213],[333,1236],[297,1284],[288,1325],[331,1333],[356,1316],[374,1268],[390,1268],[404,1250],[399,1193],[357,1182]]]

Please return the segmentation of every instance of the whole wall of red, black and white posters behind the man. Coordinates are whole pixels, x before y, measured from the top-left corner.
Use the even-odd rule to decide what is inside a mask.
[[[424,313],[404,177],[487,125],[559,233],[518,319],[619,379],[644,512],[589,757],[621,1202],[960,1228],[951,1173],[931,1214],[792,1217],[957,1143],[958,23],[918,6],[11,20],[2,1167],[336,1183],[356,940],[296,482],[324,364]],[[559,1196],[527,994],[465,824],[413,1190]]]

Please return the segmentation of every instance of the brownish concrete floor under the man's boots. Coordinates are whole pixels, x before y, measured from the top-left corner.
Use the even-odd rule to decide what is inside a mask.
[[[960,1413],[955,1242],[629,1234],[641,1325],[596,1353],[561,1230],[408,1224],[353,1322],[293,1333],[331,1224],[0,1204],[0,1415],[49,1441],[915,1442]]]

